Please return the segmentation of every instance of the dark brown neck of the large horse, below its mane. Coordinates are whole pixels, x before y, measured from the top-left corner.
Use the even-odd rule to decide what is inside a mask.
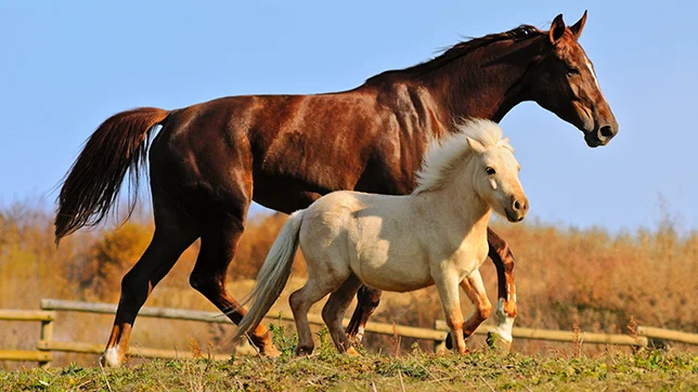
[[[423,76],[431,95],[452,118],[489,118],[495,122],[531,100],[525,75],[542,54],[541,38],[493,42]]]

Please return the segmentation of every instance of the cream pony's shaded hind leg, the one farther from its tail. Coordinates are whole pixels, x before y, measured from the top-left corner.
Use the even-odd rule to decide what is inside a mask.
[[[342,353],[347,352],[350,355],[360,355],[354,348],[349,343],[349,339],[341,327],[345,312],[351,303],[351,299],[361,287],[361,280],[351,274],[339,288],[329,296],[329,299],[322,309],[322,319],[327,325],[329,336],[335,342],[337,350]]]

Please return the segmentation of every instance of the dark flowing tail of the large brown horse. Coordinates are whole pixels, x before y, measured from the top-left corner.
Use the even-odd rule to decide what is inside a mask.
[[[150,133],[169,112],[142,107],[109,117],[92,133],[68,171],[55,217],[55,241],[85,225],[95,225],[111,211],[130,170],[129,215],[135,207],[140,167]]]

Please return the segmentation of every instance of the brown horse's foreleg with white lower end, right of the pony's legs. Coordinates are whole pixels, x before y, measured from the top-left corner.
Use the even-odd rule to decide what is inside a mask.
[[[514,254],[504,239],[490,227],[487,230],[487,240],[490,245],[488,256],[496,267],[497,297],[496,327],[488,334],[488,342],[493,343],[497,338],[506,344],[512,343],[512,328],[517,314],[516,286],[514,285]]]

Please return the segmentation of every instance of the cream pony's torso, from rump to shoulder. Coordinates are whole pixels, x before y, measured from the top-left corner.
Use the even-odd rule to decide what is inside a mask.
[[[300,231],[308,269],[348,265],[362,282],[391,291],[432,284],[411,197],[334,192],[315,201]]]

